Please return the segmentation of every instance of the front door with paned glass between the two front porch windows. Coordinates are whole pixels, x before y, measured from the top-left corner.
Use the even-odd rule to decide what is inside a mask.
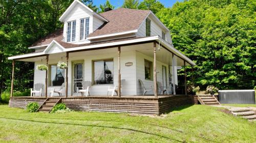
[[[77,93],[77,88],[82,88],[83,82],[83,62],[73,62],[73,94]]]

